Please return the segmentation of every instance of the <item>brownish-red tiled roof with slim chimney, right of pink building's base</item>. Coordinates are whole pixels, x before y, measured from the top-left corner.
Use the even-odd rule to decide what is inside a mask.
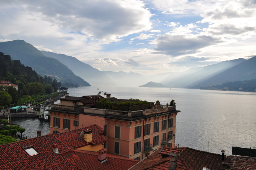
[[[167,148],[145,158],[129,170],[168,170],[170,167],[170,153],[177,154],[176,170],[203,170],[206,167],[210,170],[219,170],[222,165],[222,155],[210,152],[199,151],[191,148]]]

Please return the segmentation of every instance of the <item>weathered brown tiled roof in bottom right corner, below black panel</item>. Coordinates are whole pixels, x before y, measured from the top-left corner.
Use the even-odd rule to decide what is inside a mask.
[[[228,163],[226,170],[256,170],[256,158],[247,156],[227,156],[225,162]]]

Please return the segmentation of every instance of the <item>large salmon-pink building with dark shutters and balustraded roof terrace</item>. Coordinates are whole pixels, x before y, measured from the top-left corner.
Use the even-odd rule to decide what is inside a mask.
[[[48,110],[51,116],[50,133],[66,132],[97,124],[106,131],[108,153],[142,160],[162,146],[174,147],[176,106],[135,105],[129,109],[97,109],[101,96],[71,97],[68,93],[60,98],[59,105]],[[109,101],[124,102],[107,94]],[[97,100],[97,101],[96,101]]]

